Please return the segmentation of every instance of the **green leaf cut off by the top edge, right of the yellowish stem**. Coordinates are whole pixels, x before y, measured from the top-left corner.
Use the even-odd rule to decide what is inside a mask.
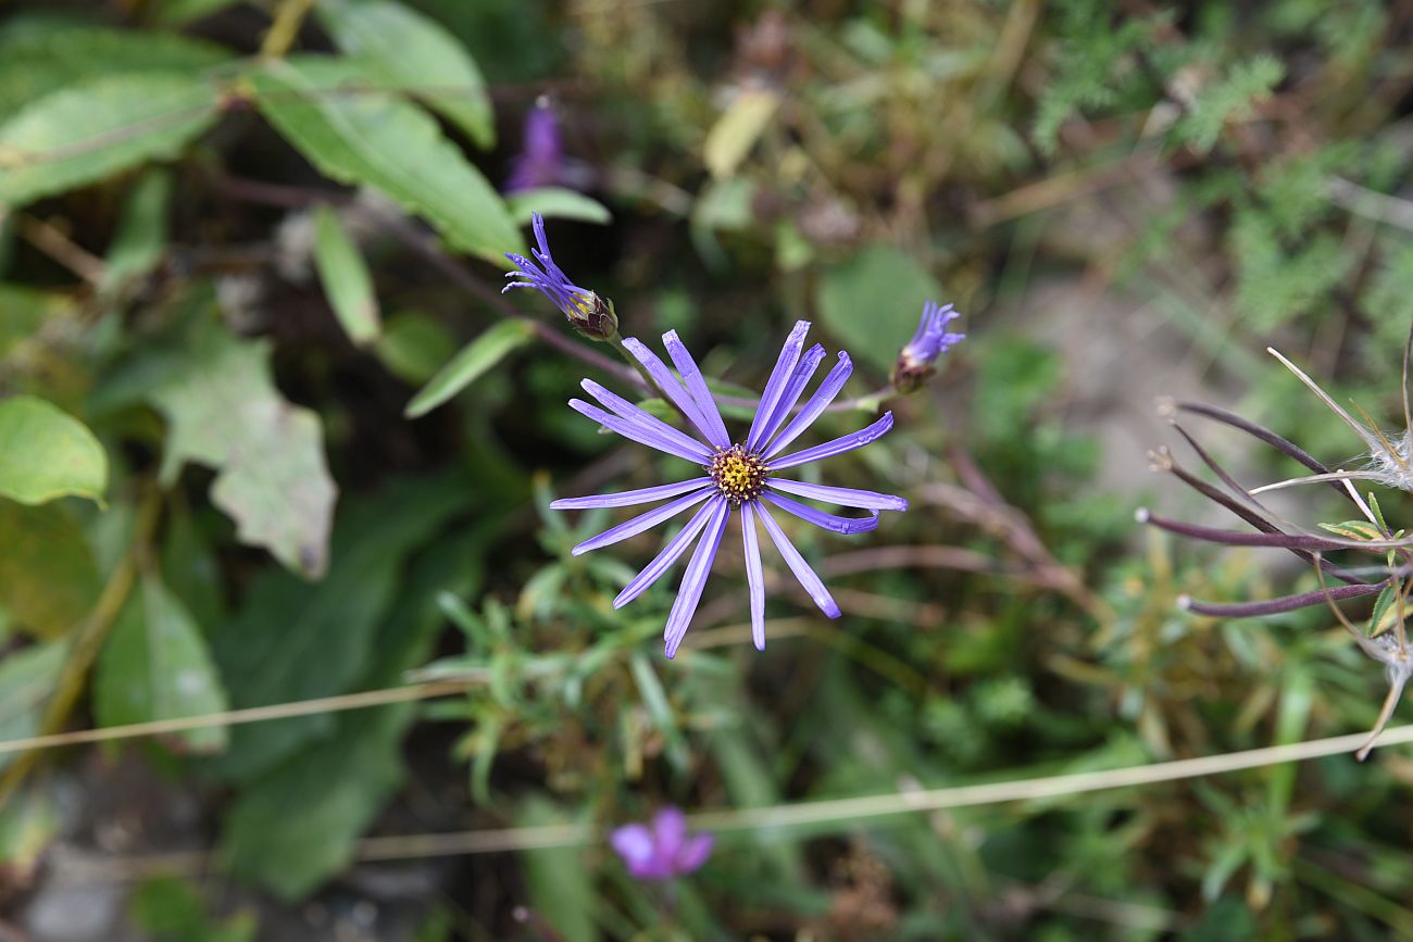
[[[319,20],[341,49],[376,62],[455,121],[482,150],[496,144],[496,121],[475,59],[435,20],[390,0],[333,0]]]

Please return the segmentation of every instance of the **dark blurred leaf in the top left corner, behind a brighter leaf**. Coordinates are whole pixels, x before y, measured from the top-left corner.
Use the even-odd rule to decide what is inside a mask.
[[[167,0],[164,6],[171,6]],[[233,58],[203,40],[20,14],[0,28],[0,121],[49,92],[100,75],[199,72]]]

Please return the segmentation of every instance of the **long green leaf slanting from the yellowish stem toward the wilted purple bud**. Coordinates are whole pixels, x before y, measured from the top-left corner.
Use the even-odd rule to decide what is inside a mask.
[[[322,174],[373,186],[454,249],[504,264],[503,253],[524,243],[500,195],[422,109],[367,90],[377,75],[343,59],[291,56],[249,79],[260,112]]]

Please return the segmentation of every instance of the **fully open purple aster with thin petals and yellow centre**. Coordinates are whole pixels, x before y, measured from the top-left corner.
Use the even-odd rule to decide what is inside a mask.
[[[675,517],[688,508],[695,513],[682,530],[668,539],[663,551],[647,564],[637,576],[627,583],[623,592],[613,600],[613,607],[622,607],[643,595],[649,586],[660,579],[673,564],[675,564],[695,542],[697,549],[687,564],[677,600],[667,616],[667,627],[663,633],[667,647],[667,657],[677,652],[687,634],[687,626],[697,612],[702,588],[706,585],[706,575],[716,549],[721,547],[722,535],[732,511],[740,513],[740,534],[746,555],[746,582],[750,588],[750,624],[752,636],[757,648],[766,647],[766,593],[764,575],[760,566],[760,545],[756,523],[759,521],[771,542],[784,556],[786,565],[804,586],[814,603],[831,619],[839,617],[839,606],[835,604],[825,589],[824,582],[815,575],[810,564],[805,562],[800,551],[794,548],[776,521],[774,510],[784,511],[791,517],[798,517],[824,530],[838,534],[858,534],[873,530],[879,524],[880,510],[907,510],[907,501],[892,494],[879,494],[872,490],[855,490],[851,487],[829,487],[825,484],[810,484],[803,480],[780,477],[781,472],[800,467],[855,448],[862,448],[876,441],[893,428],[893,414],[885,412],[876,422],[858,432],[851,432],[822,445],[801,451],[787,451],[788,446],[820,417],[834,401],[834,397],[844,388],[845,380],[853,366],[846,353],[839,353],[838,363],[815,388],[805,404],[796,412],[796,404],[804,394],[804,387],[810,383],[820,362],[824,360],[824,347],[818,343],[804,350],[804,335],[810,329],[808,321],[796,323],[794,330],[786,340],[776,369],[770,374],[766,391],[756,407],[756,417],[750,422],[750,431],[743,439],[732,439],[726,434],[716,403],[706,388],[706,380],[697,369],[695,360],[677,339],[677,332],[670,330],[663,335],[667,353],[677,367],[681,378],[667,369],[667,366],[646,346],[633,338],[623,340],[625,347],[643,366],[649,376],[657,383],[663,394],[677,410],[687,417],[695,428],[697,436],[688,435],[667,422],[649,415],[627,400],[608,391],[593,380],[584,380],[582,386],[591,397],[599,401],[603,408],[591,405],[581,400],[569,400],[569,407],[595,422],[617,432],[623,438],[656,448],[698,465],[702,475],[673,484],[644,487],[617,494],[599,494],[593,497],[569,497],[550,504],[555,510],[581,510],[586,507],[630,507],[666,500],[666,504],[649,510],[644,514],[619,524],[592,539],[586,539],[574,548],[574,555],[608,547],[609,544],[627,539],[636,534],[656,527],[657,524]],[[858,507],[872,511],[868,517],[839,517],[822,510],[817,510],[794,500],[805,497],[838,507]],[[668,500],[671,499],[671,500]]]

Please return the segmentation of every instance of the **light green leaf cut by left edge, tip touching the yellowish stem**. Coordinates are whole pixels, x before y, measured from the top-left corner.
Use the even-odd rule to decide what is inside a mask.
[[[172,158],[219,110],[220,89],[195,72],[103,75],[51,92],[0,126],[0,203]]]

